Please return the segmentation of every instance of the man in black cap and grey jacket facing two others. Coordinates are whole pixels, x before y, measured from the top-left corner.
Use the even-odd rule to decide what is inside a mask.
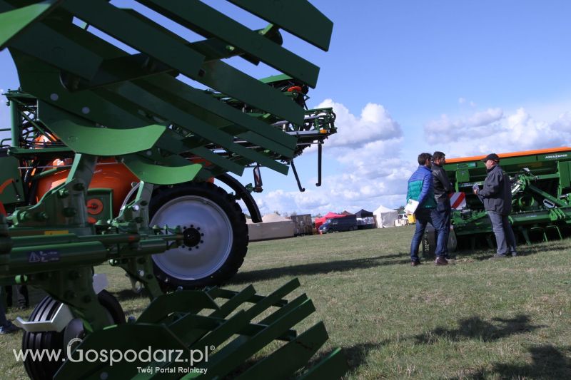
[[[508,215],[512,211],[512,184],[500,167],[500,157],[495,153],[490,153],[482,161],[486,165],[487,176],[482,190],[474,188],[480,200],[484,203],[484,208],[492,222],[497,243],[497,252],[494,259],[507,257],[507,255],[517,256],[515,251],[515,236],[513,235]]]

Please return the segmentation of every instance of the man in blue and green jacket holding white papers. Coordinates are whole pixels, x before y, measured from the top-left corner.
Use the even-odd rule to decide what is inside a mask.
[[[436,207],[434,199],[433,173],[430,171],[432,165],[430,153],[420,153],[418,155],[418,169],[408,180],[408,192],[406,202],[409,200],[418,201],[415,210],[416,230],[413,241],[410,243],[410,260],[413,267],[420,265],[418,258],[418,247],[423,239],[426,225],[430,222],[435,230],[438,230],[438,240],[436,242],[436,265],[447,265],[444,257],[444,223],[438,214],[431,211]]]

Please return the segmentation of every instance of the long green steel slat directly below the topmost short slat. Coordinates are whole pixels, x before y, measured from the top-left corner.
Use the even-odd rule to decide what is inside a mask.
[[[242,51],[259,58],[279,71],[315,87],[319,68],[277,43],[268,40],[258,31],[246,28],[216,9],[198,0],[138,0],[149,8],[178,22],[205,37],[217,36]]]

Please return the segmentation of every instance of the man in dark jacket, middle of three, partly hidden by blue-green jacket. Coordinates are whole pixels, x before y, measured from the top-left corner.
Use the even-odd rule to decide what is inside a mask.
[[[433,181],[434,181],[434,198],[436,200],[436,208],[433,210],[437,217],[443,220],[444,229],[444,257],[448,257],[448,235],[450,235],[450,197],[448,194],[452,192],[452,185],[448,179],[448,175],[443,168],[446,163],[446,156],[442,152],[436,151],[433,154]],[[435,230],[436,240],[438,241],[438,230]]]

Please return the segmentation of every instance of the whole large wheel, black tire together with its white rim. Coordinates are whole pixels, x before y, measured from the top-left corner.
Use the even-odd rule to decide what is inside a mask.
[[[155,275],[167,289],[221,285],[238,272],[248,251],[248,225],[236,200],[213,183],[156,190],[151,225],[181,226],[183,245],[153,255]]]

